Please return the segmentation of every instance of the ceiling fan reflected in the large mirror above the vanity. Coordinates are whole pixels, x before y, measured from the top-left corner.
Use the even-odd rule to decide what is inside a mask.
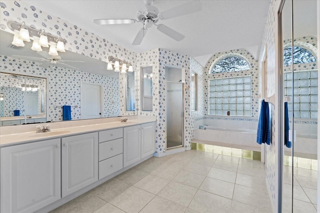
[[[49,55],[49,53],[47,53],[46,51],[39,51],[36,53],[38,53],[42,57],[30,57],[30,56],[23,56],[23,55],[12,55],[12,57],[19,58],[19,59],[26,59],[26,60],[42,61],[42,63],[39,66],[43,68],[47,68],[50,65],[59,64],[59,66],[67,69],[79,70],[74,66],[71,66],[62,62],[84,62],[84,61],[61,60],[61,56],[59,55],[52,56],[52,55]]]

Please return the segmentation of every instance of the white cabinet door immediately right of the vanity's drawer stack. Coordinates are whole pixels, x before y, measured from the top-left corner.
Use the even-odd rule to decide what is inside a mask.
[[[141,126],[123,128],[123,168],[141,159]]]

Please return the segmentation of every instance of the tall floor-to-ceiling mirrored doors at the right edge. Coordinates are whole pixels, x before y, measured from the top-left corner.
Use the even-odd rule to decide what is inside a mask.
[[[285,0],[280,13],[279,70],[284,102],[282,212],[315,213],[317,208],[316,3]]]

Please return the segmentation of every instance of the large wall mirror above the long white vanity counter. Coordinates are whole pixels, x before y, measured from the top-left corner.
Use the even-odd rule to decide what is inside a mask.
[[[67,50],[58,52],[59,58],[52,60],[52,56],[48,54],[49,48],[42,47],[42,51],[36,52],[31,50],[32,42],[24,42],[24,47],[16,47],[11,45],[12,39],[13,34],[1,30],[1,125],[32,123],[31,119],[23,120],[23,122],[17,121],[18,119],[13,112],[10,112],[10,116],[6,117],[5,115],[4,110],[7,110],[6,107],[8,107],[6,101],[22,94],[25,97],[21,97],[20,100],[26,100],[24,107],[21,108],[15,104],[10,106],[8,111],[20,110],[19,116],[24,117],[24,113],[26,113],[25,115],[32,118],[34,117],[32,114],[37,111],[43,113],[38,113],[38,116],[46,118],[41,122],[57,122],[62,121],[62,106],[70,105],[71,120],[82,119],[80,113],[81,82],[102,85],[101,118],[120,116],[119,73],[106,70],[105,62]],[[2,75],[6,76],[3,79],[7,79],[7,83],[16,83],[14,85],[16,92],[2,91],[5,90],[5,87],[9,87],[7,83],[4,83]],[[47,79],[47,84],[39,87],[40,83],[35,82],[36,79]],[[31,87],[31,91],[22,91],[22,84],[28,90]],[[38,86],[36,92],[35,88],[32,91],[32,86]],[[45,97],[47,98],[45,99]],[[36,99],[38,100],[36,101]],[[31,106],[31,103],[37,104]],[[25,106],[25,104],[27,105]],[[33,120],[33,122],[39,121]]]

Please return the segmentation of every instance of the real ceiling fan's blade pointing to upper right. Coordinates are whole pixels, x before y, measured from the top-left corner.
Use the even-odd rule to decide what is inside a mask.
[[[198,12],[202,9],[202,3],[199,0],[190,1],[188,3],[170,8],[163,12],[160,12],[160,19],[169,19],[177,16],[189,14],[192,12]]]

